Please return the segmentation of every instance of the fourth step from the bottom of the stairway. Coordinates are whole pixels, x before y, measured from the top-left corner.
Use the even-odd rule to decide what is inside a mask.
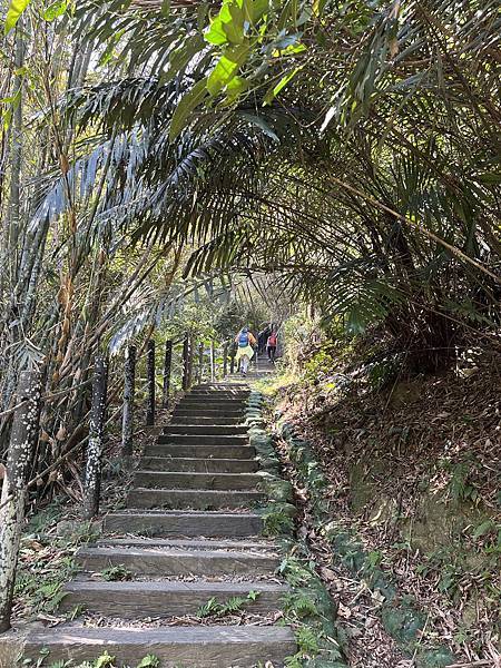
[[[106,533],[121,534],[238,538],[259,536],[263,521],[252,512],[114,512],[106,515],[104,530]]]

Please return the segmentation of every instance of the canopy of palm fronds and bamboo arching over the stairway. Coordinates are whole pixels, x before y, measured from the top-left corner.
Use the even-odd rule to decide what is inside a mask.
[[[55,452],[99,347],[242,276],[414,369],[499,347],[495,2],[6,10],[0,412],[40,366]]]

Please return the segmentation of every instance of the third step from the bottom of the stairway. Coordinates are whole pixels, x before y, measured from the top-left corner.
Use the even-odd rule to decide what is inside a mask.
[[[87,571],[124,566],[134,574],[177,576],[265,576],[279,566],[278,557],[236,550],[196,550],[155,547],[81,548],[77,562]]]

